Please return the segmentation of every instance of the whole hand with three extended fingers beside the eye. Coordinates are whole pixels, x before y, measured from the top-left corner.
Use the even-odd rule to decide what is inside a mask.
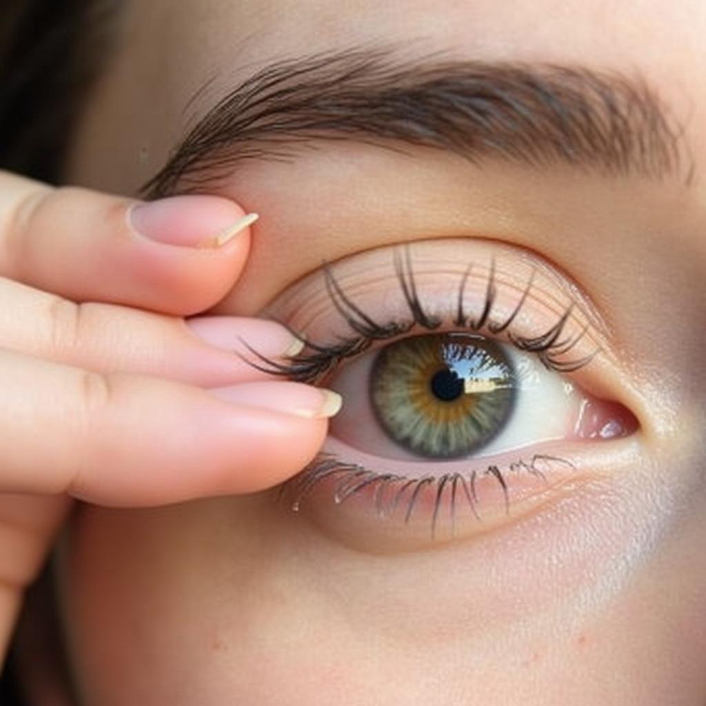
[[[237,280],[249,229],[216,236],[243,217],[217,197],[135,207],[0,172],[0,655],[71,497],[258,491],[321,445],[335,396],[271,381],[233,352],[242,337],[284,355],[291,334],[181,318]]]

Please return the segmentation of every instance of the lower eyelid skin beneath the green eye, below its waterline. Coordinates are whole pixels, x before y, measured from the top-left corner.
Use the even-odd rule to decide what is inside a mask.
[[[387,486],[382,500],[379,496],[381,485],[371,483],[336,503],[337,489],[340,491],[344,484],[345,494],[345,483],[350,488],[351,482],[356,481],[350,473],[347,477],[331,474],[312,484],[311,475],[304,472],[282,486],[280,501],[285,510],[294,510],[295,516],[313,522],[325,534],[352,549],[374,554],[422,551],[436,549],[448,542],[481,537],[590,487],[604,492],[610,477],[633,465],[639,453],[640,445],[635,437],[605,445],[564,443],[525,450],[527,464],[535,454],[545,457],[538,465],[541,475],[520,468],[508,469],[505,464],[517,462],[517,457],[513,461],[509,461],[510,457],[504,461],[498,459],[498,468],[503,468],[507,496],[496,475],[477,463],[475,511],[458,483],[455,510],[450,500],[452,486],[449,480],[445,482],[440,499],[438,479],[424,484],[417,493],[409,517],[409,499],[418,484],[405,480],[396,484],[385,481]],[[466,463],[462,473],[466,479],[469,479],[472,467],[472,462]],[[408,484],[406,495],[393,508],[395,493],[405,483]]]

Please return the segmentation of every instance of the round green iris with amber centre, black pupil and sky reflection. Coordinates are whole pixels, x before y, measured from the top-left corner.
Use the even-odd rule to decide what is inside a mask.
[[[491,441],[513,411],[515,389],[503,347],[465,333],[390,344],[370,378],[373,409],[388,436],[433,458],[464,457]]]

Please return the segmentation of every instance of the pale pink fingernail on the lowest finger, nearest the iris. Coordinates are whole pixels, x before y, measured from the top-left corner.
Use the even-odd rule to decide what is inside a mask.
[[[307,419],[333,417],[343,402],[342,397],[333,390],[314,388],[304,383],[242,383],[213,388],[210,392],[236,405],[263,407]]]

